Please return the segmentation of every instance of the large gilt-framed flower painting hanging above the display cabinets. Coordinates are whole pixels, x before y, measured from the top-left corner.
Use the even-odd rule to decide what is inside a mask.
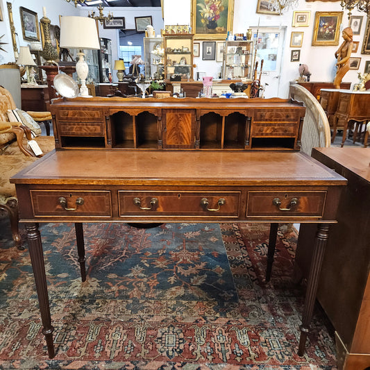
[[[234,0],[192,0],[194,39],[225,40],[233,32]]]

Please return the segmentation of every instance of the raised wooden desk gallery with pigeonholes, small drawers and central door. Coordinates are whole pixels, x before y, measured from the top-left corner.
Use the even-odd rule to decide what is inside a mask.
[[[305,108],[288,99],[54,99],[56,149],[299,150]]]

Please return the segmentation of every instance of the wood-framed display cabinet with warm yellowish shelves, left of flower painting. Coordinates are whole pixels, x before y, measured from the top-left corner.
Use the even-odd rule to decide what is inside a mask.
[[[164,35],[167,80],[193,81],[193,37],[190,33]]]

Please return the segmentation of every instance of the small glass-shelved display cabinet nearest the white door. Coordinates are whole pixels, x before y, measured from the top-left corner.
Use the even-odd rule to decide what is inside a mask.
[[[252,78],[253,41],[226,41],[224,78]]]

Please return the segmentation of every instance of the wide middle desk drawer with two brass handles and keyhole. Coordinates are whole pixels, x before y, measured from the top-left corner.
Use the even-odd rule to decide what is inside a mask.
[[[118,192],[119,216],[239,217],[240,192]]]

